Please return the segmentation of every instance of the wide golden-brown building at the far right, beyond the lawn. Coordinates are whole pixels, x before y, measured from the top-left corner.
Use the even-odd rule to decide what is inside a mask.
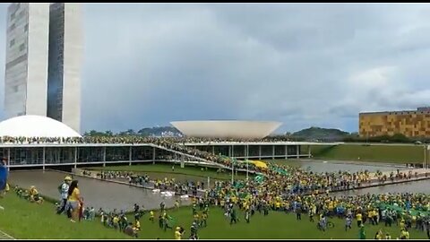
[[[430,137],[430,108],[359,114],[360,137],[404,134]]]

